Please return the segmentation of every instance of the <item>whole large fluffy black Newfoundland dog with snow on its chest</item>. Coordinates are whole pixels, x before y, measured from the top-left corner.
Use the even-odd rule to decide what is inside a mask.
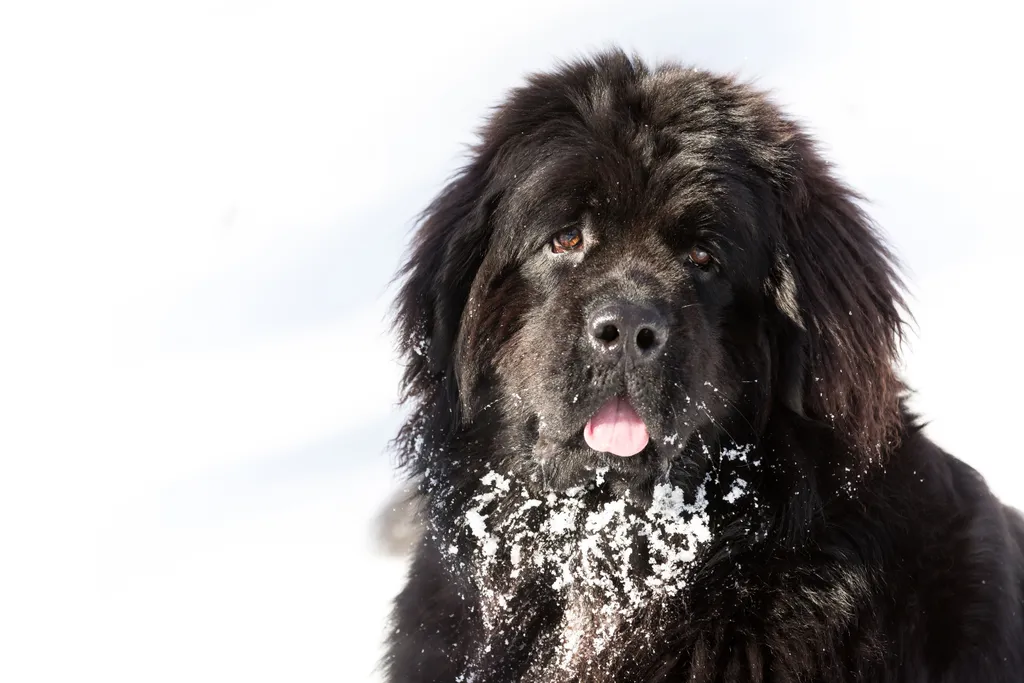
[[[1024,680],[1024,521],[922,432],[894,258],[793,119],[536,75],[401,271],[393,683]]]

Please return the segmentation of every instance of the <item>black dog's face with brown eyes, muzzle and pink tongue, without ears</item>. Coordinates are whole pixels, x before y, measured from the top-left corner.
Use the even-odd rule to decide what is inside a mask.
[[[611,163],[593,136],[543,142],[492,217],[462,316],[468,413],[500,400],[552,485],[597,466],[664,473],[767,380],[771,250],[736,211],[758,188],[738,169],[667,168],[643,154],[648,135]]]

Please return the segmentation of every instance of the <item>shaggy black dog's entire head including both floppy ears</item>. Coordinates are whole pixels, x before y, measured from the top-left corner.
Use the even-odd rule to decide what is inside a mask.
[[[409,452],[485,422],[569,485],[779,416],[864,457],[894,437],[892,258],[764,94],[612,52],[535,76],[481,138],[403,271]]]

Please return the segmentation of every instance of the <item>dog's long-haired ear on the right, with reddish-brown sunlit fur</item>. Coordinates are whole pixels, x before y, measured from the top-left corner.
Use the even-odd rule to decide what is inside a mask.
[[[782,313],[777,390],[860,451],[895,438],[903,385],[898,266],[859,198],[804,136],[783,202],[775,299]]]

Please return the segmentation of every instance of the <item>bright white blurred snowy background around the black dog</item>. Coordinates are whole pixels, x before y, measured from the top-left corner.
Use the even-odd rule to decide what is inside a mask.
[[[1024,505],[1012,3],[17,5],[5,681],[376,680],[403,571],[369,532],[395,485],[389,279],[487,108],[610,44],[756,78],[811,126],[907,266],[930,430]]]

